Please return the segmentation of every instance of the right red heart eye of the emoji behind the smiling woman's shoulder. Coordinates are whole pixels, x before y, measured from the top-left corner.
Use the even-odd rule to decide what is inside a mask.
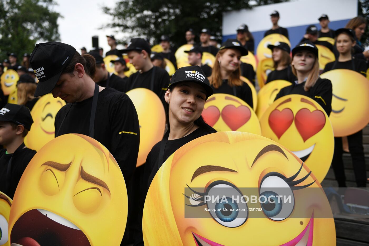
[[[227,105],[222,110],[222,118],[231,128],[232,131],[237,130],[249,121],[251,117],[251,111],[247,106],[241,105],[235,107],[233,105]]]

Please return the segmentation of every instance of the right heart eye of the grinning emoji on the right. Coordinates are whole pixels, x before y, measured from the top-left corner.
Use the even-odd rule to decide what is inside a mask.
[[[300,109],[295,116],[295,125],[305,142],[323,129],[325,115],[320,110],[310,112],[308,109]]]

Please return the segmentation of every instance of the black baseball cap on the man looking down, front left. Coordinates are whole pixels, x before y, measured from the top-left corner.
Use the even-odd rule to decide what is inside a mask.
[[[31,53],[30,64],[38,79],[35,97],[50,93],[68,66],[76,49],[62,42],[36,44]]]

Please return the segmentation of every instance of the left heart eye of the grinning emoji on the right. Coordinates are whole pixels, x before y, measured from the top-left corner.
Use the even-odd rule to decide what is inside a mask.
[[[282,111],[275,109],[270,113],[268,122],[272,131],[277,135],[278,139],[280,139],[293,122],[293,112],[288,108]]]

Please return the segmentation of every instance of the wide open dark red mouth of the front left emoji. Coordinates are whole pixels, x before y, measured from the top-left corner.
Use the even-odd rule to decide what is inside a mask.
[[[90,245],[76,225],[44,209],[32,209],[20,216],[11,230],[10,242],[12,246]]]

